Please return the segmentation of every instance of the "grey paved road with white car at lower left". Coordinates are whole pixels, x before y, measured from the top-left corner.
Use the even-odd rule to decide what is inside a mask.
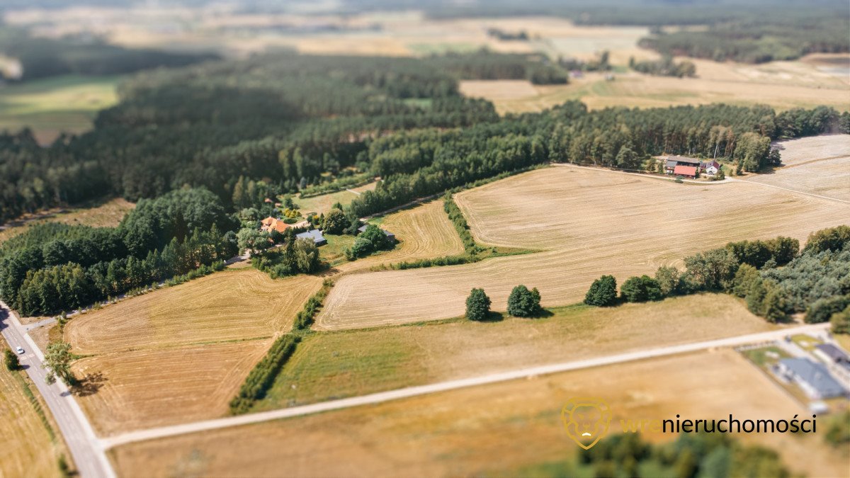
[[[50,413],[53,413],[82,478],[114,477],[115,471],[74,395],[71,395],[68,387],[59,380],[52,385],[44,381],[47,371],[42,367],[42,351],[38,350],[30,336],[26,335],[25,327],[3,302],[0,302],[0,332],[12,350],[20,346],[26,351],[24,355],[18,356],[20,364],[44,397]]]

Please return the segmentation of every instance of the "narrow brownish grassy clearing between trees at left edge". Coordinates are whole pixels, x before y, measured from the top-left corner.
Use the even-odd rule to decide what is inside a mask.
[[[0,243],[24,232],[27,227],[45,222],[60,222],[70,225],[90,225],[92,227],[115,227],[124,216],[135,207],[133,202],[127,202],[121,197],[103,202],[92,207],[81,206],[68,212],[58,213],[48,210],[39,214],[31,214],[13,221],[0,230]]]

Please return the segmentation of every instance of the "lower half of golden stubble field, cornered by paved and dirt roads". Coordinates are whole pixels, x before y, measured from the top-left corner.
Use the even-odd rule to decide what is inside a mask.
[[[271,339],[133,350],[75,361],[77,395],[100,435],[217,418]]]

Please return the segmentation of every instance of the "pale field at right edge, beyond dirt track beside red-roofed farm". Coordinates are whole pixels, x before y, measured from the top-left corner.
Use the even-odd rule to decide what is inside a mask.
[[[746,180],[850,202],[850,134],[774,143],[783,166]]]

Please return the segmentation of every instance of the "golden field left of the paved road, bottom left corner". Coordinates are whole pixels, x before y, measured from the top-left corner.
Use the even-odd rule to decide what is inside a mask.
[[[5,348],[0,345],[0,351]],[[23,372],[9,372],[0,364],[0,476],[59,476],[56,460],[62,451],[26,395],[25,384]]]

